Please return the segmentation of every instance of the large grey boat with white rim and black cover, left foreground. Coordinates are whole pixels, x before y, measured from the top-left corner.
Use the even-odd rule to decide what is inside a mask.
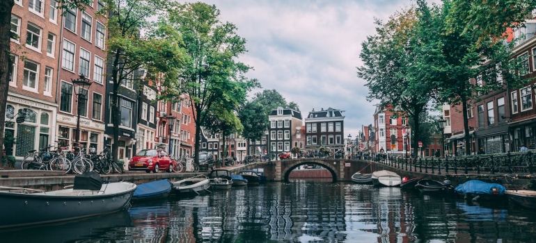
[[[116,212],[127,206],[136,184],[102,183],[95,172],[74,177],[74,185],[56,191],[0,187],[0,228],[48,224]]]

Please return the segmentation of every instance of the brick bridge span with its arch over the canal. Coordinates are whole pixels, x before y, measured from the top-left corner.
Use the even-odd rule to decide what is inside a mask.
[[[283,160],[281,162],[281,179],[289,181],[290,172],[301,165],[320,165],[328,169],[331,173],[333,181],[339,181],[340,175],[340,160],[335,159],[298,159],[298,160]]]

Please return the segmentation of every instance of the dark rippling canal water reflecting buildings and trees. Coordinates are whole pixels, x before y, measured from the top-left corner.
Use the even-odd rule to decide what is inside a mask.
[[[536,242],[536,211],[397,187],[293,181],[0,234],[0,242]]]

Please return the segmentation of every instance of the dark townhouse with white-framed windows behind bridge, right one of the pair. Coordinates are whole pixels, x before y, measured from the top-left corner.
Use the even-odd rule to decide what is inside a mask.
[[[305,121],[305,149],[317,153],[320,146],[329,146],[333,153],[345,154],[344,110],[321,108],[309,112]]]

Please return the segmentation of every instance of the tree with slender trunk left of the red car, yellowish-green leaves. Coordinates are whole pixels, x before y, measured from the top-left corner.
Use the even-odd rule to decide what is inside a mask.
[[[109,13],[107,22],[112,83],[111,114],[119,114],[118,94],[125,82],[142,82],[131,77],[139,69],[148,71],[148,78],[176,80],[187,56],[181,47],[180,35],[174,28],[166,25],[163,19],[155,24],[148,22],[150,17],[166,16],[166,0],[104,0],[106,8],[102,14]],[[145,35],[141,36],[140,33]],[[118,140],[120,116],[112,116],[113,160],[118,160]]]

